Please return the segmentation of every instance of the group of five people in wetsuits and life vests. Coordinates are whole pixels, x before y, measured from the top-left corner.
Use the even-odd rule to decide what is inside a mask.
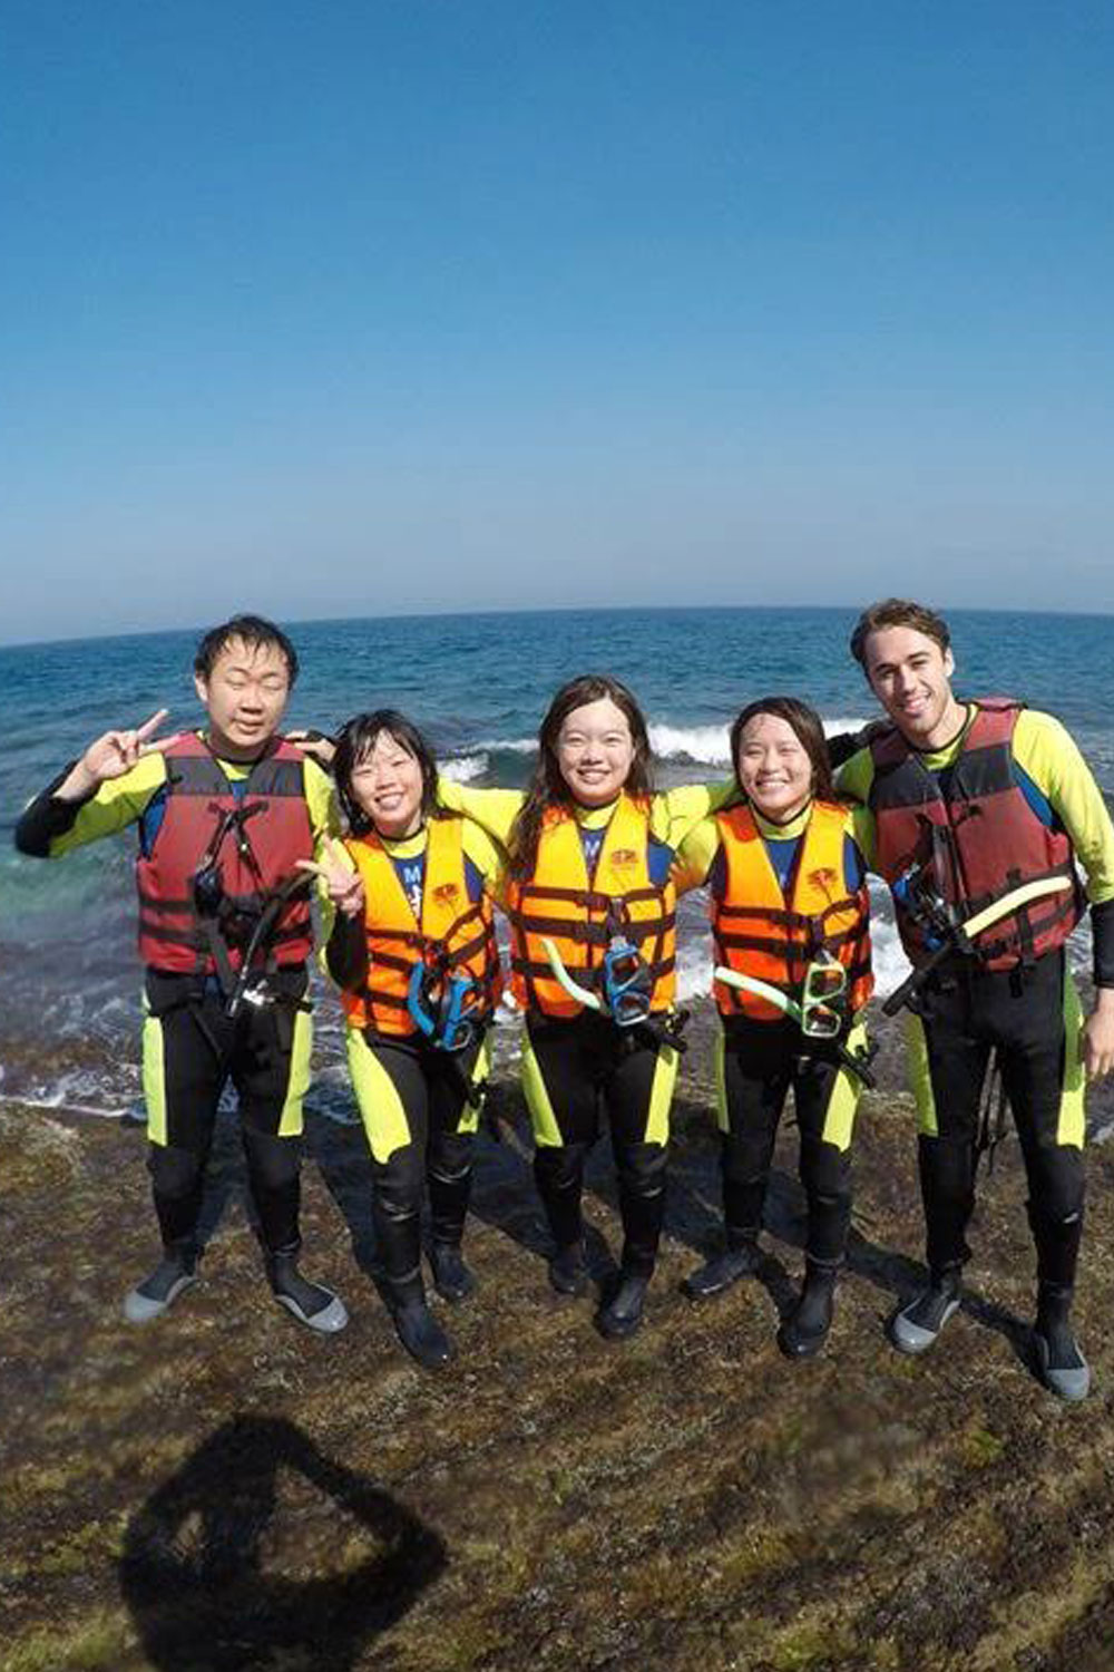
[[[159,1316],[195,1279],[205,1159],[232,1078],[271,1287],[317,1331],[346,1323],[342,1301],[297,1267],[316,881],[403,1344],[428,1366],[451,1354],[423,1281],[426,1187],[434,1286],[451,1301],[473,1287],[461,1244],[503,991],[496,908],[524,1015],[549,1281],[563,1294],[588,1289],[583,1174],[606,1112],[623,1249],[598,1326],[631,1334],[663,1229],[683,1048],[676,900],[705,888],[725,1244],[686,1291],[711,1296],[760,1269],[792,1090],[808,1231],[803,1286],[778,1343],[788,1356],[815,1354],[832,1323],[855,1105],[870,1080],[875,871],[914,965],[909,1062],[929,1262],[890,1339],[924,1351],[960,1302],[994,1053],[1027,1169],[1037,1368],[1062,1398],[1086,1396],[1071,1302],[1084,1082],[1114,1067],[1111,819],[1057,721],[1002,697],[955,697],[949,629],[932,610],[872,605],[852,650],[887,716],[860,737],[827,742],[807,704],[767,697],[732,727],[732,782],[655,793],[638,704],[590,675],[554,696],[533,779],[516,793],[439,777],[418,727],[387,709],[351,719],[322,766],[314,737],[279,732],[297,674],[289,639],[261,617],[207,634],[195,660],[204,731],[159,741],[159,714],[105,734],[17,828],[23,853],[60,856],[139,826],[144,1090],[164,1256],[127,1296],[125,1316]],[[1084,1023],[1066,943],[1087,903],[1096,1003]]]

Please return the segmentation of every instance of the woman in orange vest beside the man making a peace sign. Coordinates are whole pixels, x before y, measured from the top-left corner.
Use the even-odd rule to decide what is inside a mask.
[[[499,995],[491,891],[501,858],[483,829],[438,806],[433,752],[404,716],[357,714],[332,764],[349,836],[319,868],[336,906],[326,961],[342,993],[394,1324],[434,1368],[453,1349],[421,1276],[423,1175],[434,1286],[463,1301],[474,1287],[461,1239]]]

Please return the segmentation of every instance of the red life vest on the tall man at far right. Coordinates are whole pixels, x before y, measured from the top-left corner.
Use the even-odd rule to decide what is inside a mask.
[[[1012,739],[1022,706],[1010,697],[979,701],[944,788],[897,727],[870,744],[877,869],[890,886],[924,866],[932,888],[964,920],[1022,883],[1071,878],[1071,890],[1034,900],[979,938],[977,956],[987,970],[1056,951],[1084,908],[1071,838],[1044,823],[1017,776]],[[900,898],[894,906],[905,951],[914,963],[924,961],[927,931]]]

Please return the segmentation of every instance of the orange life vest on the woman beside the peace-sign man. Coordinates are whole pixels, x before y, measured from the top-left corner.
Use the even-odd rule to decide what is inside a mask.
[[[352,1027],[396,1037],[416,1033],[406,998],[418,963],[473,976],[479,983],[476,1020],[498,1003],[501,973],[491,903],[486,895],[478,901],[468,898],[463,829],[459,818],[429,821],[421,923],[414,921],[394,861],[374,831],[346,839],[367,898],[367,986],[341,995]]]

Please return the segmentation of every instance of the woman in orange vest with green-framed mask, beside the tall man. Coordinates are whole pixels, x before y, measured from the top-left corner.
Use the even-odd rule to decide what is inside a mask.
[[[727,1247],[686,1279],[693,1299],[760,1269],[758,1231],[777,1127],[793,1092],[800,1179],[808,1202],[805,1284],[778,1329],[790,1358],[820,1349],[850,1221],[850,1142],[870,997],[865,864],[853,813],[832,786],[818,716],[793,697],[752,702],[732,727],[745,801],[701,821],[683,843],[678,888],[706,884],[717,966],[757,978],[787,1000],[830,995],[802,1028],[760,993],[715,980],[723,1022],[717,1087]],[[812,971],[817,971],[810,975]],[[835,1012],[835,1017],[832,1015]]]

